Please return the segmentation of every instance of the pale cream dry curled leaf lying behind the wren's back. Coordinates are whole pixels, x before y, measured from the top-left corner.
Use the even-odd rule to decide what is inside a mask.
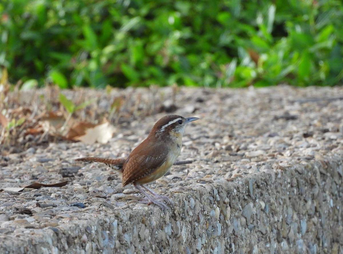
[[[93,128],[87,129],[86,134],[75,138],[86,144],[93,144],[95,142],[107,143],[113,136],[113,133],[116,131],[116,128],[113,125],[110,125],[108,122],[99,124]]]

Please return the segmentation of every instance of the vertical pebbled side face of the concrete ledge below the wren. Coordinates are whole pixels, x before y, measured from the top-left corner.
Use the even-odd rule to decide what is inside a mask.
[[[83,210],[65,226],[2,234],[0,253],[342,253],[342,176],[334,156],[199,183],[174,193],[171,212]]]

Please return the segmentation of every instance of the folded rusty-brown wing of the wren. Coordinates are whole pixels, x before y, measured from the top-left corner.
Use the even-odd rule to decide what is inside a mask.
[[[159,145],[146,145],[144,140],[129,156],[123,167],[122,185],[128,185],[144,176],[152,174],[167,159],[167,151]],[[165,151],[165,152],[163,152]]]

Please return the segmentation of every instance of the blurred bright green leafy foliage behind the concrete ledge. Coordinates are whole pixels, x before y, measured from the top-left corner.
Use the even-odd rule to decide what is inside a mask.
[[[341,0],[0,2],[0,65],[40,86],[337,85],[342,45]]]

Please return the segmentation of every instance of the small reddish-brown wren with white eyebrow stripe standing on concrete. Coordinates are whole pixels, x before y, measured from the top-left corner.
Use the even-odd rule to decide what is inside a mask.
[[[154,203],[162,209],[168,209],[161,200],[169,201],[171,204],[173,202],[167,196],[158,195],[144,184],[155,181],[168,172],[180,154],[182,134],[186,124],[198,119],[179,115],[162,117],[154,125],[149,136],[125,159],[85,157],[75,161],[105,163],[108,167],[119,170],[122,174],[122,186],[132,183],[145,195],[146,199],[142,201],[143,203]],[[153,196],[146,193],[143,188]]]

